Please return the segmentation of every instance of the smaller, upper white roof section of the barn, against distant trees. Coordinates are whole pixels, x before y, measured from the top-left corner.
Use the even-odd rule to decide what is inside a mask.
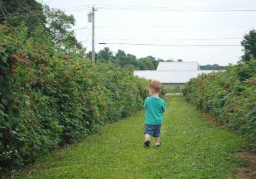
[[[200,66],[198,61],[159,62],[156,70],[200,70]]]

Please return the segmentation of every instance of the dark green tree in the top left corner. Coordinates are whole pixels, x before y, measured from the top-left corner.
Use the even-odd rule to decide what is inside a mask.
[[[13,27],[24,22],[30,34],[36,26],[45,26],[46,15],[41,3],[35,0],[0,0],[0,23],[6,21]]]

